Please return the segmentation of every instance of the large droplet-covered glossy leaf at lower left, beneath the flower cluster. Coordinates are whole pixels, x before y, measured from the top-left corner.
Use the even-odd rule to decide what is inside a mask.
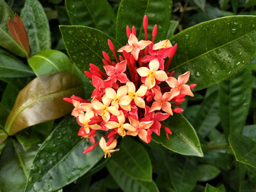
[[[75,117],[65,118],[41,145],[29,172],[27,191],[56,191],[73,183],[97,164],[104,152],[100,146],[87,154],[82,152],[91,146],[86,139],[78,137]],[[105,132],[104,132],[105,133]],[[99,141],[102,134],[95,137]]]

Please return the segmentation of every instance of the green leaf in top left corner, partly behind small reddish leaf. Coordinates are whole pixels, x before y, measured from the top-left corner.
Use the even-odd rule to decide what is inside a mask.
[[[6,1],[0,0],[0,46],[6,48],[18,56],[26,58],[26,52],[20,45],[12,38],[7,22],[9,18],[14,18],[14,13],[11,11]]]

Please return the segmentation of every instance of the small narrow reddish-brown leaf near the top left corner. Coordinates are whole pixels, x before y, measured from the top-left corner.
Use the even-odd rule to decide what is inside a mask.
[[[13,21],[11,18],[8,20],[8,28],[11,33],[11,36],[14,40],[26,51],[26,55],[29,57],[29,43],[27,38],[26,31],[23,31],[21,26]]]

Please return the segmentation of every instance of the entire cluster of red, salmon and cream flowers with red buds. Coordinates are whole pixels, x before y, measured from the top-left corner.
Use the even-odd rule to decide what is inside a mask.
[[[85,75],[95,87],[91,101],[74,95],[64,98],[75,106],[71,114],[81,125],[78,136],[90,139],[93,144],[85,149],[84,154],[100,144],[105,157],[110,156],[112,152],[119,150],[114,149],[118,135],[138,135],[142,141],[149,143],[153,132],[160,135],[161,127],[169,139],[171,130],[161,121],[173,115],[173,112],[183,112],[181,108],[171,106],[181,105],[186,95],[193,97],[191,89],[196,85],[185,85],[189,71],[179,75],[178,79],[174,78],[174,71],[167,72],[177,44],[172,46],[169,40],[154,44],[157,26],[154,26],[152,41],[147,40],[146,16],[143,26],[145,41],[138,41],[135,27],[133,26],[131,31],[127,26],[129,39],[127,46],[117,50],[122,53],[119,59],[114,45],[108,40],[116,63],[103,51],[105,73],[93,64],[90,64],[90,72],[85,71]],[[169,59],[164,64],[167,57]],[[107,134],[95,143],[97,130],[107,131]]]

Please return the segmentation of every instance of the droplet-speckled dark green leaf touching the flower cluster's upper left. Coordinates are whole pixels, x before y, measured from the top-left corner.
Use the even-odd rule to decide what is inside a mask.
[[[89,63],[102,68],[104,65],[102,63],[102,51],[108,53],[110,59],[115,61],[114,55],[107,44],[108,39],[114,44],[115,50],[122,47],[114,38],[94,28],[85,26],[60,26],[60,31],[68,55],[82,73],[85,70],[89,71]]]

